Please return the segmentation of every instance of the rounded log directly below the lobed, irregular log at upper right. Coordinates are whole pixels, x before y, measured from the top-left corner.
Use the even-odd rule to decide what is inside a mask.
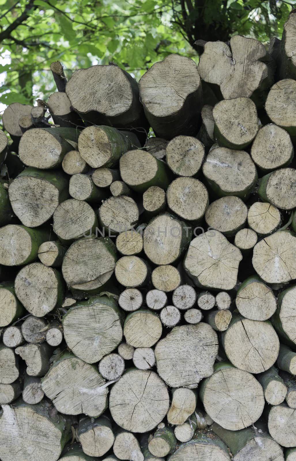
[[[249,98],[219,101],[213,108],[213,119],[215,139],[231,149],[249,146],[259,130],[256,106]]]

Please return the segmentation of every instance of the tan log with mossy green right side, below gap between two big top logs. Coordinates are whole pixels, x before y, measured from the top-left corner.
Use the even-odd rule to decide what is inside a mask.
[[[129,150],[119,160],[120,176],[136,192],[151,186],[167,189],[171,173],[165,162],[140,149]]]

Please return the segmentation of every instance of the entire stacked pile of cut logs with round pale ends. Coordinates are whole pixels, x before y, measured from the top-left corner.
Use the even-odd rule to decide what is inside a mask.
[[[2,461],[296,460],[295,56],[292,12],[6,108]]]

